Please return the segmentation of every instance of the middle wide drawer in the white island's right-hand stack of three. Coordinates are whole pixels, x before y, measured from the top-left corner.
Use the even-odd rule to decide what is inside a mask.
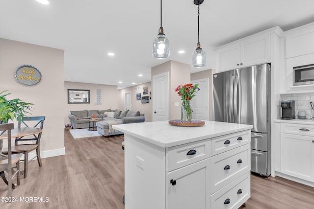
[[[250,171],[251,147],[245,144],[211,158],[211,193]]]

